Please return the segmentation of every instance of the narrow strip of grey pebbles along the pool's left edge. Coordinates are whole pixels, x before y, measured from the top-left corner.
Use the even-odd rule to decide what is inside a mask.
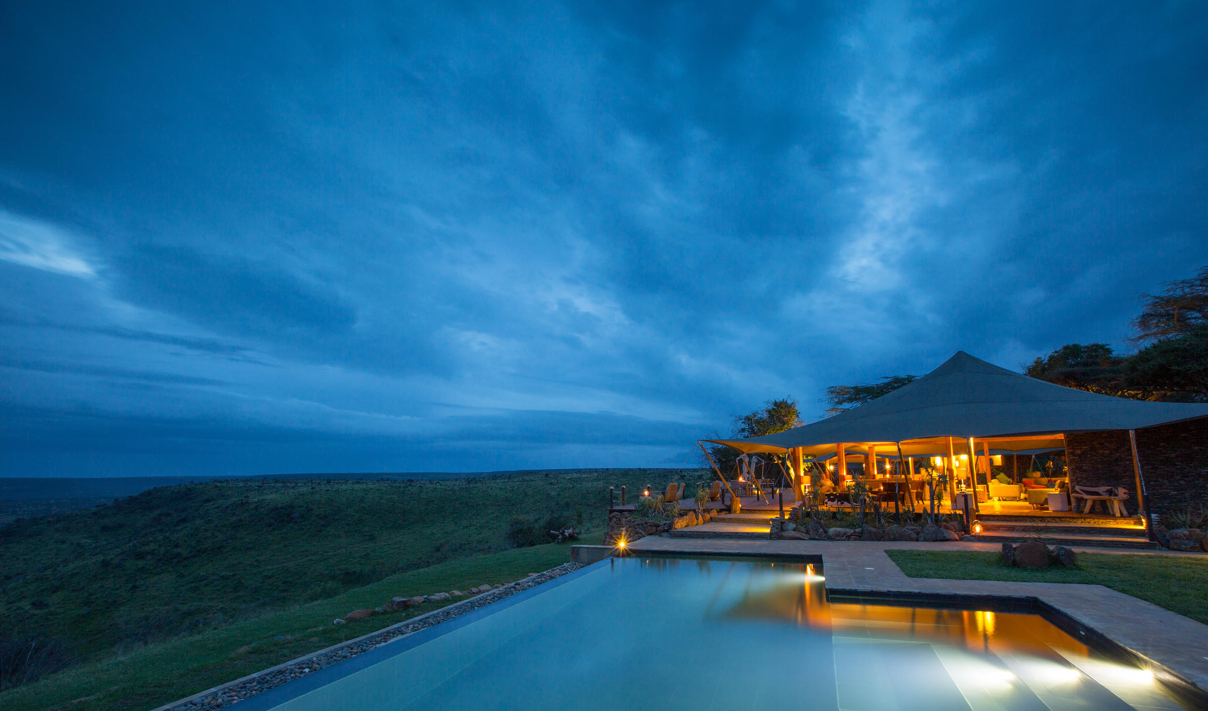
[[[153,711],[201,711],[221,709],[231,704],[237,704],[244,699],[255,697],[261,692],[267,692],[273,687],[278,687],[288,681],[307,676],[308,674],[313,674],[320,669],[361,654],[362,652],[368,652],[370,649],[393,642],[399,637],[418,633],[422,629],[453,619],[459,614],[472,612],[480,607],[484,607],[492,602],[515,595],[516,593],[535,588],[541,583],[547,583],[581,567],[586,566],[580,563],[564,563],[558,567],[551,567],[545,572],[528,576],[522,581],[507,583],[506,585],[490,590],[489,593],[483,593],[475,598],[470,598],[469,600],[454,602],[447,607],[441,607],[440,610],[434,610],[425,614],[420,614],[419,617],[406,619],[354,640],[339,642],[338,645],[333,645],[326,649],[312,652],[306,657],[298,657],[291,662],[278,664],[277,666],[272,666],[263,671],[257,671],[256,674],[238,678],[220,687],[214,687],[213,689],[207,689],[198,694],[193,694],[192,697],[180,699],[179,701],[164,704]]]

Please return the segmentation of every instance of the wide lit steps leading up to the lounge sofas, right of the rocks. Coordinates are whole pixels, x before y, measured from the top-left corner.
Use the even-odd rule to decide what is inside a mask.
[[[1158,544],[1145,537],[1139,518],[1081,521],[1070,518],[982,515],[982,534],[963,541],[980,543],[1021,543],[1044,538],[1050,546],[1092,548],[1154,549]]]

